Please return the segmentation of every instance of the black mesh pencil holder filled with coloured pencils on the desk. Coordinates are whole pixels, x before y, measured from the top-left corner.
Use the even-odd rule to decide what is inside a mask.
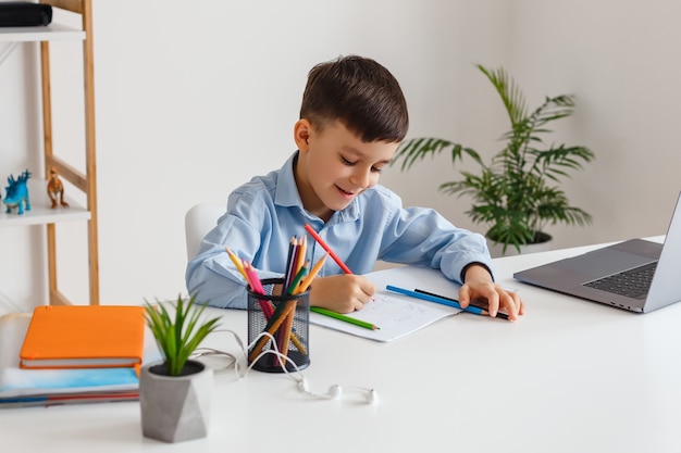
[[[284,279],[270,278],[262,280],[264,294],[253,292],[248,287],[248,344],[262,336],[248,351],[248,364],[253,369],[265,373],[294,372],[296,367],[304,369],[310,364],[310,291],[299,294],[283,294]],[[285,354],[289,361],[274,354],[276,350]],[[270,351],[271,353],[264,353]]]

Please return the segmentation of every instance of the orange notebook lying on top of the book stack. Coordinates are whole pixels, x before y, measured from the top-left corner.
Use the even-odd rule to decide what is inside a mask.
[[[139,366],[145,323],[140,305],[38,306],[20,352],[20,367]]]

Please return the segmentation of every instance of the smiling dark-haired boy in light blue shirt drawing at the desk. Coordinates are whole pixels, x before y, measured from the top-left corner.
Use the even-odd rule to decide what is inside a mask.
[[[282,277],[290,239],[310,224],[352,270],[326,260],[310,287],[311,305],[361,310],[376,290],[362,275],[383,260],[439,268],[463,284],[461,306],[483,298],[492,316],[503,307],[517,319],[523,302],[494,284],[483,236],[456,228],[434,210],[404,209],[377,185],[408,125],[399,84],[375,61],[351,55],[314,66],[294,126],[298,150],[281,169],[232,192],[227,212],[188,263],[189,293],[200,291],[213,306],[245,309],[246,282],[225,247],[252,263],[261,279]],[[308,238],[312,263],[324,253]]]

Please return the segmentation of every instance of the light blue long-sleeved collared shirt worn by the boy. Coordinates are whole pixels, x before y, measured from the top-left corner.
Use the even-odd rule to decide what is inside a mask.
[[[280,168],[253,177],[230,194],[227,211],[203,238],[189,261],[186,284],[189,294],[212,306],[246,309],[246,282],[225,247],[250,262],[261,279],[284,275],[288,244],[301,237],[309,223],[352,270],[373,270],[376,261],[442,269],[457,282],[471,263],[492,269],[482,235],[457,228],[432,209],[403,207],[401,199],[376,185],[360,193],[327,223],[302,207],[294,178],[294,153]],[[315,263],[325,250],[308,237],[308,257]],[[319,276],[342,274],[326,260]]]

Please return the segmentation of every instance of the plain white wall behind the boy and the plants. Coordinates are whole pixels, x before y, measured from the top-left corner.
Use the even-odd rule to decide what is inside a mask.
[[[680,13],[674,0],[202,0],[195,9],[176,0],[94,0],[102,303],[185,291],[184,213],[197,202],[224,203],[250,176],[283,163],[294,151],[307,72],[338,54],[372,56],[393,71],[409,103],[410,136],[442,136],[485,153],[496,151],[507,124],[474,63],[505,65],[532,105],[545,95],[577,95],[577,114],[556,139],[597,154],[565,186],[595,222],[552,228],[558,246],[665,232],[680,188]],[[36,143],[35,79],[17,75],[34,67],[32,49],[0,66],[2,179],[26,164],[16,149]],[[77,53],[66,60],[63,72],[79,64]],[[12,97],[16,87],[28,106]],[[66,125],[79,122],[81,104],[69,99],[58,114]],[[467,200],[437,193],[455,175],[442,156],[407,174],[391,168],[383,183],[406,204],[434,206],[481,230],[462,214]],[[61,242],[74,255],[62,267],[84,269],[75,240],[84,228],[63,229]],[[23,306],[42,303],[41,238],[8,228],[0,238],[0,291]],[[83,284],[69,276],[64,287],[84,303]]]

